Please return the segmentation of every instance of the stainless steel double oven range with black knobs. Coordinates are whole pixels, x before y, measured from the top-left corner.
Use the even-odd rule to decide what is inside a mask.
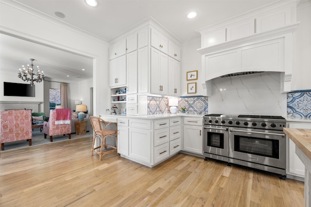
[[[286,136],[281,116],[207,114],[205,158],[286,175]]]

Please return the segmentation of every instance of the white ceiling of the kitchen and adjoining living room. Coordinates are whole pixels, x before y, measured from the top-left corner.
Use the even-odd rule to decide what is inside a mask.
[[[97,0],[95,8],[86,5],[84,0],[16,1],[106,41],[152,16],[177,39],[186,42],[200,37],[196,30],[276,0]],[[191,11],[198,15],[188,19]],[[60,18],[55,12],[65,17]],[[18,71],[22,64],[34,58],[35,65],[52,80],[79,81],[92,77],[91,59],[4,34],[0,34],[0,46],[0,70],[3,65],[12,65],[12,70]]]

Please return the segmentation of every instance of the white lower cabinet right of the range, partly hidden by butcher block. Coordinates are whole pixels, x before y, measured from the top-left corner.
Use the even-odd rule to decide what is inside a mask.
[[[307,122],[287,122],[289,128],[307,128],[311,129],[311,123]],[[295,143],[287,137],[287,174],[298,177],[305,177],[305,165],[295,153]]]

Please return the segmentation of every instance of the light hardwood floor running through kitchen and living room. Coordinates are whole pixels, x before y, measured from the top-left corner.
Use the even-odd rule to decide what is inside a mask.
[[[0,206],[304,206],[303,182],[181,153],[154,168],[117,153],[99,161],[91,142],[2,151]]]

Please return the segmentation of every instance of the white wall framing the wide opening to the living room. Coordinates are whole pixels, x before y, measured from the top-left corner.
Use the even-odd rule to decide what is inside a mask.
[[[0,1],[0,32],[93,59],[94,115],[110,104],[108,43],[15,1]],[[32,27],[29,29],[30,22]],[[43,90],[43,89],[42,89]]]

